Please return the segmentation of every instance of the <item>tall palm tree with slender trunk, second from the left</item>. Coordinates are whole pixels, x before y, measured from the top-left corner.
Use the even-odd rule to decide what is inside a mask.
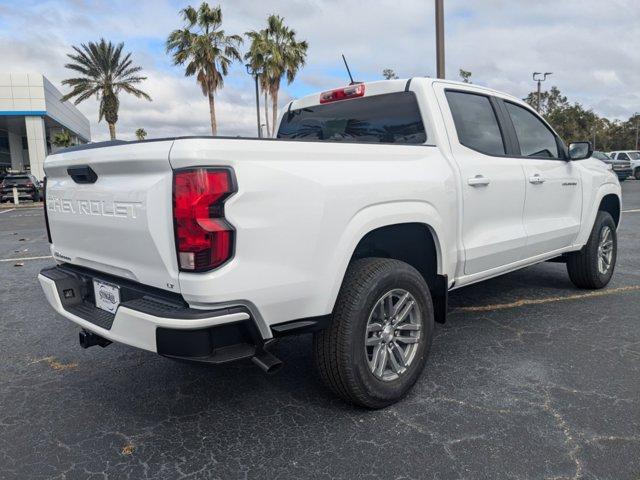
[[[185,76],[196,76],[202,94],[209,99],[211,133],[218,134],[214,94],[224,84],[229,66],[240,60],[239,35],[226,35],[222,30],[221,8],[202,2],[198,10],[192,6],[181,10],[186,26],[174,30],[167,38],[167,53],[173,54],[175,65],[184,65]]]

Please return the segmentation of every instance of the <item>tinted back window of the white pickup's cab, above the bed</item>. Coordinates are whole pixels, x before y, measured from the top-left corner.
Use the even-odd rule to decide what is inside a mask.
[[[427,134],[415,94],[398,92],[285,112],[278,138],[420,144]]]

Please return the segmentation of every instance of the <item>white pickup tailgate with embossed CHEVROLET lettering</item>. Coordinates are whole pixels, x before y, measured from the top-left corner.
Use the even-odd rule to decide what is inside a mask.
[[[46,202],[55,259],[178,292],[172,144],[89,147],[48,157]],[[94,182],[82,176],[91,171]]]

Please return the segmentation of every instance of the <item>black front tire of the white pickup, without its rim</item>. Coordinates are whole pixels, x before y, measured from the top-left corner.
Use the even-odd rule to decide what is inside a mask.
[[[611,231],[612,258],[606,273],[602,273],[598,267],[600,236],[605,228]],[[572,253],[567,258],[567,271],[569,278],[578,288],[598,289],[605,287],[616,266],[618,256],[618,236],[616,224],[608,212],[599,211],[596,221],[589,235],[587,244],[579,252]]]

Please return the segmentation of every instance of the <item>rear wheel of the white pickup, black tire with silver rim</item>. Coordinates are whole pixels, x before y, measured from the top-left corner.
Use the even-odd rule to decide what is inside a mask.
[[[397,260],[351,263],[331,324],[314,336],[325,384],[344,400],[383,408],[400,400],[424,369],[433,339],[429,288]]]

